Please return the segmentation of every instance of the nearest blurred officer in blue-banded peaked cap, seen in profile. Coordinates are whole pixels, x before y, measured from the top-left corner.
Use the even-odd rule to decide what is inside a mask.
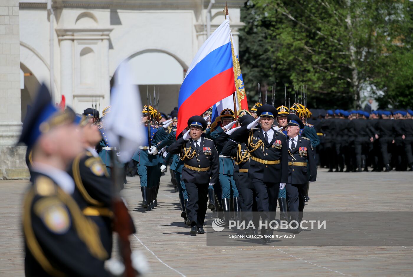
[[[33,151],[33,186],[23,208],[25,275],[110,276],[96,225],[71,197],[75,185],[64,171],[82,151],[75,115],[58,110],[51,100],[43,85],[19,139]]]

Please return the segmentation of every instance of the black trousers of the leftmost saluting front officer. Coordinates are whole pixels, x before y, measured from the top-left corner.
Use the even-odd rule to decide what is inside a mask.
[[[191,226],[202,227],[205,221],[208,204],[208,183],[195,184],[186,182],[186,192],[188,192],[188,218],[191,220]]]

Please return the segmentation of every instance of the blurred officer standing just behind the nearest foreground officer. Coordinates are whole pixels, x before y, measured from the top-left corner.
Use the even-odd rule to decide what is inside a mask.
[[[84,151],[69,167],[75,181],[74,199],[84,215],[99,228],[100,239],[110,258],[112,253],[112,181],[96,150],[93,148],[102,136],[93,116],[83,116],[79,132]]]

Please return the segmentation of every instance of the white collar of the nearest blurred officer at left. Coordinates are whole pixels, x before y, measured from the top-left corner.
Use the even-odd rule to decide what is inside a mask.
[[[39,162],[33,163],[33,171],[50,177],[64,192],[73,194],[75,183],[66,171]]]

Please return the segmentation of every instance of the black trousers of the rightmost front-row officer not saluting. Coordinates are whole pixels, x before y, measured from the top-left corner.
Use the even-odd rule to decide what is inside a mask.
[[[307,184],[285,185],[285,189],[287,190],[287,206],[291,220],[301,222],[303,219],[302,211],[304,211],[304,202],[306,200],[306,188]]]

